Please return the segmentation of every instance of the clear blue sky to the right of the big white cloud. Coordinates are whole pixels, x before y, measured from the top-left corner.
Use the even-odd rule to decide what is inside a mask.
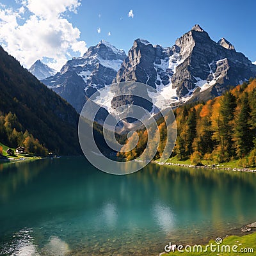
[[[79,25],[88,45],[100,38],[109,40],[125,52],[134,39],[169,46],[195,24],[200,24],[213,40],[222,36],[238,51],[256,60],[256,1],[82,1],[72,20]],[[133,10],[134,18],[127,17]],[[83,15],[80,15],[82,14]],[[101,14],[100,19],[98,14]],[[122,17],[122,20],[120,20]],[[97,35],[97,27],[101,28]],[[94,29],[94,30],[93,30]],[[111,31],[111,36],[107,33]]]

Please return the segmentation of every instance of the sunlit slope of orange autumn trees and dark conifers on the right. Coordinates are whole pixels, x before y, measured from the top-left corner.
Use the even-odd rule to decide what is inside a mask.
[[[247,166],[256,163],[256,79],[250,79],[224,95],[200,104],[175,109],[177,141],[172,156],[223,163],[241,159]],[[165,143],[166,125],[159,123],[161,143],[156,159]],[[147,131],[140,131],[138,147],[123,156],[138,157],[147,142]]]

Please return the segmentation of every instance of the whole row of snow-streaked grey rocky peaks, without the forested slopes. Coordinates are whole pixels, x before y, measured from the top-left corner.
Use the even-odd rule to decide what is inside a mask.
[[[127,56],[102,40],[80,58],[72,58],[56,75],[42,80],[79,113],[93,93],[111,83],[136,81],[156,88],[171,106],[208,100],[230,86],[255,77],[256,65],[225,38],[214,42],[199,25],[171,47],[136,39]],[[148,95],[154,97],[154,95]],[[100,94],[100,97],[109,97]],[[112,100],[112,108],[124,100]]]

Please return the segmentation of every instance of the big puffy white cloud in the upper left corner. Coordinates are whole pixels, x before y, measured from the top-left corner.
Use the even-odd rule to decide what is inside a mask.
[[[0,6],[0,44],[22,65],[29,68],[38,59],[50,58],[47,64],[60,70],[72,52],[86,52],[79,29],[64,17],[76,12],[80,0],[23,0],[20,4],[17,10]]]

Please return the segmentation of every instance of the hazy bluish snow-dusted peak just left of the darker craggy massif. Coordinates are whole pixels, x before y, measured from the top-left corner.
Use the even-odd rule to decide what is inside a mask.
[[[112,83],[125,58],[123,50],[102,40],[90,47],[83,57],[67,61],[60,72],[42,82],[80,113],[87,97]]]

